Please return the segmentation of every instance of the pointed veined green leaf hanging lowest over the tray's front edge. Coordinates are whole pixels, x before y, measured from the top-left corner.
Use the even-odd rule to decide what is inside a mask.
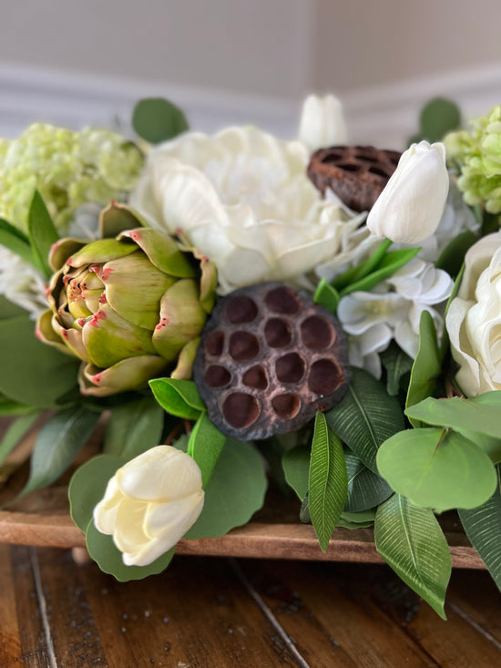
[[[452,560],[432,510],[415,508],[398,494],[376,511],[377,551],[395,573],[445,619],[445,591]]]

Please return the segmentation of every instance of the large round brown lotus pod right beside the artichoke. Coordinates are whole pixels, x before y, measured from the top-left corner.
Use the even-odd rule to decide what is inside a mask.
[[[307,293],[260,283],[220,299],[193,367],[210,420],[239,440],[299,429],[350,382],[337,319]]]

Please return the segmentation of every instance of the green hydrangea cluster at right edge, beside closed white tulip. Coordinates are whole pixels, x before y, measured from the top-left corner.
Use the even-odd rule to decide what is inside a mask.
[[[466,204],[484,204],[489,213],[501,212],[501,106],[477,118],[471,133],[445,137],[450,158],[460,165],[457,180]]]

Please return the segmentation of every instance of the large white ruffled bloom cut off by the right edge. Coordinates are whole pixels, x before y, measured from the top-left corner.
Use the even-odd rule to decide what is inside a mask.
[[[501,231],[466,253],[461,287],[445,325],[465,396],[501,390]]]

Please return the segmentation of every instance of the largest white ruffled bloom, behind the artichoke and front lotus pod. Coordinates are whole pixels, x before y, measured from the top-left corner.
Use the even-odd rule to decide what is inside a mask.
[[[306,176],[308,151],[258,128],[180,135],[153,149],[130,204],[179,233],[218,268],[220,292],[264,281],[304,286],[363,215],[323,200]],[[367,230],[363,236],[369,236]]]

